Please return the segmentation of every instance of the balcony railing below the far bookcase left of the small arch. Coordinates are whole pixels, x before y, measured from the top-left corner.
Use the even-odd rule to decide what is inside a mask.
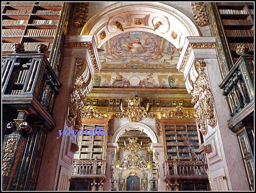
[[[105,170],[105,160],[75,161],[72,175],[105,175]]]

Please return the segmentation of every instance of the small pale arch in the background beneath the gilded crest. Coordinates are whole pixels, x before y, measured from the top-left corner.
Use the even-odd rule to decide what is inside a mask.
[[[124,124],[122,127],[119,127],[118,130],[113,135],[112,142],[111,143],[117,143],[118,138],[125,133],[125,130],[130,131],[130,130],[136,130],[142,131],[148,135],[148,137],[151,139],[152,143],[157,143],[157,136],[155,135],[154,131],[148,127],[147,125],[143,123],[127,123]]]

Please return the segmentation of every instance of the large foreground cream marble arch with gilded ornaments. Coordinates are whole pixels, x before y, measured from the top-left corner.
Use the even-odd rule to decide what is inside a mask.
[[[140,24],[135,19],[141,19]],[[177,9],[158,2],[120,2],[113,3],[94,14],[85,23],[80,35],[96,35],[96,45],[100,48],[107,40],[122,34],[115,25],[119,21],[124,32],[150,32],[171,42],[176,48],[181,48],[187,36],[200,36],[195,24]],[[162,24],[155,31],[154,25]],[[105,31],[106,37],[100,34]],[[172,33],[176,33],[174,38]]]

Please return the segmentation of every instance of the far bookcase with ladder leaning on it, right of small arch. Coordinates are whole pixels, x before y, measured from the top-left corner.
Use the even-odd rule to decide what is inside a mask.
[[[196,160],[194,153],[183,139],[189,142],[199,160],[204,160],[204,156],[199,153],[199,135],[194,120],[161,120],[163,128],[163,142],[165,146],[165,156],[167,160],[190,161]],[[182,136],[183,135],[183,136]]]

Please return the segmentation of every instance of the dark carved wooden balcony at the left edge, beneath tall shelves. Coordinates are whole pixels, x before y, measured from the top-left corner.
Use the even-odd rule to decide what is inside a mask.
[[[3,108],[26,110],[48,129],[55,127],[51,112],[60,86],[43,53],[10,54],[3,61]]]

